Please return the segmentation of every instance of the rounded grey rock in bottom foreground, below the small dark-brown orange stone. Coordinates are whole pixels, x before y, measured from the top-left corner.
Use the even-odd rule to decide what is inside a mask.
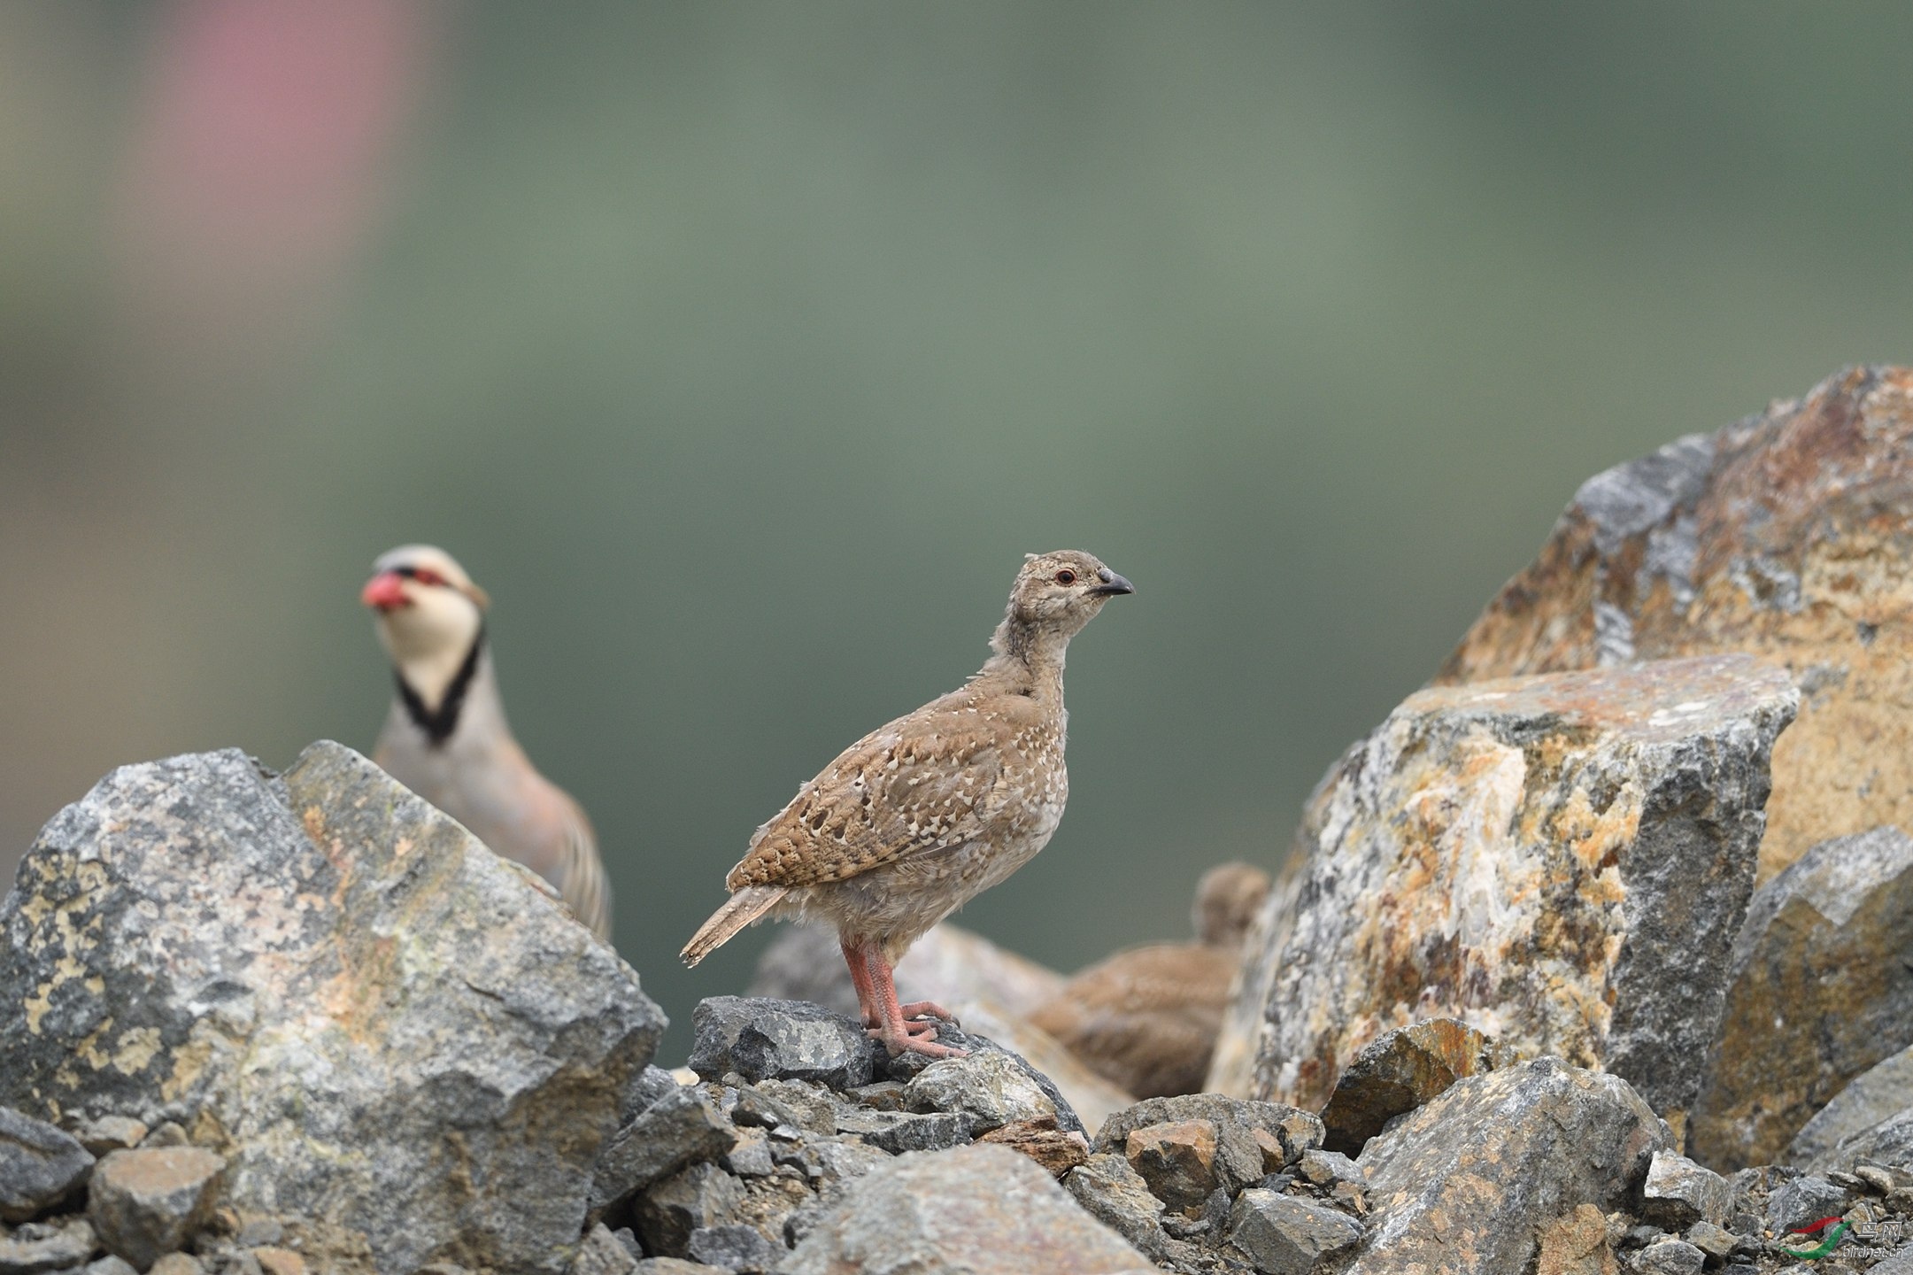
[[[1624,1080],[1559,1059],[1456,1082],[1362,1149],[1372,1216],[1347,1269],[1528,1269],[1542,1227],[1580,1204],[1618,1208],[1660,1137]]]

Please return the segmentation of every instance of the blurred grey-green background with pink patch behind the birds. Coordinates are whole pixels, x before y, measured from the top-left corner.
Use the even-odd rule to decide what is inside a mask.
[[[367,749],[446,546],[685,973],[752,829],[976,668],[1073,969],[1274,865],[1597,469],[1913,347],[1905,4],[0,6],[0,871],[107,768]]]

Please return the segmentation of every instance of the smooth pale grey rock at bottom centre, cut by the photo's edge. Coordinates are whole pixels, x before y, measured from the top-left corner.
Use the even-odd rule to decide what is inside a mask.
[[[1002,1147],[897,1156],[849,1189],[782,1275],[1142,1275],[1150,1260]]]

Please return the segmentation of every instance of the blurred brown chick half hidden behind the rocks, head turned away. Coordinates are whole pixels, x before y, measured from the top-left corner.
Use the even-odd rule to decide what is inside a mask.
[[[1196,886],[1196,942],[1117,951],[1069,978],[1029,1020],[1138,1099],[1196,1093],[1209,1074],[1242,942],[1268,873],[1222,863]]]

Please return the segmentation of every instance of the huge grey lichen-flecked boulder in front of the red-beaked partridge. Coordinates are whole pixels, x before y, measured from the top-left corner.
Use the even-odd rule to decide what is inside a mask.
[[[0,1101],[186,1124],[314,1262],[561,1273],[664,1028],[543,883],[333,743],[113,772],[0,930]]]

